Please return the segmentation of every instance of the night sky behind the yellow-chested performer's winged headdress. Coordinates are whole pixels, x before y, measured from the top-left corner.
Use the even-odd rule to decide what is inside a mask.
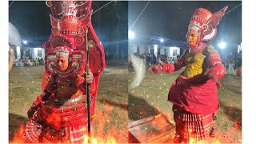
[[[129,29],[147,2],[129,2]],[[240,3],[242,2],[151,1],[132,27],[132,30],[138,39],[147,35],[149,38],[150,36],[158,36],[186,42],[187,27],[194,10],[202,7],[215,13],[223,7],[229,6],[226,10],[228,12]],[[217,29],[218,33],[213,42],[224,40],[231,45],[240,44],[242,42],[242,5],[224,15]]]

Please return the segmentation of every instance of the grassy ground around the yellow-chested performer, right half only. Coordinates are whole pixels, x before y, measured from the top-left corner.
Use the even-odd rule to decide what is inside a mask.
[[[182,70],[172,74],[149,74],[140,86],[129,92],[129,122],[163,114],[174,124],[172,103],[167,102],[167,95],[172,82],[178,78]],[[128,83],[132,81],[134,72],[129,72]],[[218,120],[215,129],[216,138],[208,138],[204,143],[242,143],[242,78],[225,75],[222,88],[218,90]]]

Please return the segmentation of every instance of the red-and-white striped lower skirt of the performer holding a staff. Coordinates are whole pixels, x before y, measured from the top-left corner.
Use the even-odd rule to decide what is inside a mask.
[[[82,143],[85,141],[87,125],[83,126],[67,126],[56,130],[50,126],[46,126],[37,114],[26,123],[24,134],[26,143]]]

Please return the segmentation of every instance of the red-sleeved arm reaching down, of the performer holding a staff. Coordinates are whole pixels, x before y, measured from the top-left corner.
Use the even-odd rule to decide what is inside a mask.
[[[50,78],[46,84],[45,90],[43,90],[42,94],[38,95],[32,106],[30,106],[30,110],[27,112],[28,118],[32,118],[34,112],[42,106],[42,102],[46,101],[50,97],[52,92],[56,90],[56,87],[55,78]]]

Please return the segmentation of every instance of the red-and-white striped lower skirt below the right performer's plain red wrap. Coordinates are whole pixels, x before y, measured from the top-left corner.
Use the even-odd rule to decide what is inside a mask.
[[[209,136],[214,128],[214,114],[193,114],[178,110],[174,106],[176,137],[180,142],[198,142]]]

